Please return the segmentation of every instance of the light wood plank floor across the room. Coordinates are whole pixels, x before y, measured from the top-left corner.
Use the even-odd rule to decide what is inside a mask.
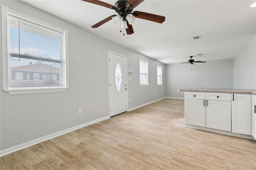
[[[1,157],[4,169],[256,169],[256,141],[184,127],[164,99]]]

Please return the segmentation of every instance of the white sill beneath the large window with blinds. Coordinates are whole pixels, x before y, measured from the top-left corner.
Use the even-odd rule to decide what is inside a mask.
[[[32,94],[32,93],[51,93],[51,92],[63,92],[66,91],[66,87],[57,87],[57,88],[49,88],[49,89],[8,89],[4,91],[8,91],[10,95],[21,95],[21,94]]]

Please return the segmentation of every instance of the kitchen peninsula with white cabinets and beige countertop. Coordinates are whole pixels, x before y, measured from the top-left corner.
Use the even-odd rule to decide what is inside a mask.
[[[185,127],[256,139],[256,89],[184,91]]]

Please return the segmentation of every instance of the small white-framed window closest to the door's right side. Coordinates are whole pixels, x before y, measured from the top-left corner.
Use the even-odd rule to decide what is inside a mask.
[[[148,61],[140,59],[140,85],[148,85]]]

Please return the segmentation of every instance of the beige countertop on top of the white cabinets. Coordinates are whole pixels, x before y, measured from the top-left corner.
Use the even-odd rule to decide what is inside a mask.
[[[206,92],[206,93],[235,93],[256,95],[256,89],[178,89],[178,91]]]

